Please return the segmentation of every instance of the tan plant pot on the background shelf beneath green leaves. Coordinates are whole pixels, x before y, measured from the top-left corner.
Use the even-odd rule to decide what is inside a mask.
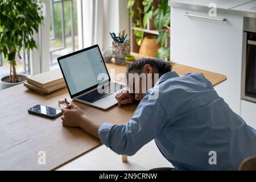
[[[146,55],[150,57],[156,57],[158,49],[161,47],[160,43],[155,43],[156,36],[145,36],[141,47],[139,48],[139,53],[141,55]]]

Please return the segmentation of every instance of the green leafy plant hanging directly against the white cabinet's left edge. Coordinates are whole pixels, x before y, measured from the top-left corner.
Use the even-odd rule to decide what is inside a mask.
[[[158,5],[158,9],[154,12],[154,25],[159,31],[159,35],[156,37],[156,44],[161,44],[156,57],[163,60],[170,59],[170,47],[167,46],[168,37],[170,37],[170,16],[168,0],[162,0]]]

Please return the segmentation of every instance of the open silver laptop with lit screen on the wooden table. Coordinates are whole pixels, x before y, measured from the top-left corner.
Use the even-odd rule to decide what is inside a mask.
[[[57,60],[72,100],[103,110],[117,104],[115,95],[126,85],[110,80],[98,45]]]

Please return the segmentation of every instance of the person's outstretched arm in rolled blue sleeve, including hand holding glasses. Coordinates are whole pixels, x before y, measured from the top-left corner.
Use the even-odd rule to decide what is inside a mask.
[[[101,140],[117,154],[134,155],[144,144],[154,139],[169,119],[168,113],[158,100],[144,98],[137,107],[133,118],[126,125],[110,123],[97,124],[75,105],[63,109],[63,125],[81,127],[86,133]]]

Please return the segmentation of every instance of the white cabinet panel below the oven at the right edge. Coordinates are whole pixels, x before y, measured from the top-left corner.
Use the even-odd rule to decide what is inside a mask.
[[[256,129],[256,104],[254,102],[241,101],[241,117],[247,125]]]

